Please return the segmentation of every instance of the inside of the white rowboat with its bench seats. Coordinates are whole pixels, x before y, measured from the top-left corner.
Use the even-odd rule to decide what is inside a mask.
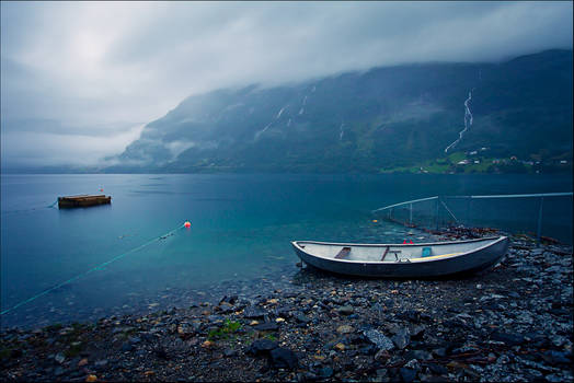
[[[445,242],[427,244],[343,244],[313,241],[297,241],[295,244],[313,256],[329,259],[355,262],[427,262],[454,257],[486,247],[500,237],[470,242]]]

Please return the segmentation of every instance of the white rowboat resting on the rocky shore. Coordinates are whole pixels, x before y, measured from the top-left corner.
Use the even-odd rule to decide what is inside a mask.
[[[344,275],[425,278],[473,272],[495,265],[508,249],[508,237],[421,244],[291,242],[307,265]]]

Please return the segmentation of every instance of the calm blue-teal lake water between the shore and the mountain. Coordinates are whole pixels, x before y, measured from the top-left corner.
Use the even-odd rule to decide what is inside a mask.
[[[48,207],[57,196],[101,188],[113,197],[112,205]],[[2,310],[186,220],[192,227],[2,315],[1,325],[188,305],[209,293],[260,286],[261,279],[288,279],[297,272],[292,240],[402,242],[405,228],[372,222],[371,210],[390,204],[437,194],[571,190],[571,176],[546,175],[4,174]],[[562,240],[572,242],[572,198],[567,201],[558,207],[563,217],[555,227]],[[491,218],[495,225],[496,217]]]

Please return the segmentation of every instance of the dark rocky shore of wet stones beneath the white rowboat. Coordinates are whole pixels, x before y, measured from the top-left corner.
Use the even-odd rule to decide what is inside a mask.
[[[473,276],[381,280],[303,268],[268,290],[188,303],[3,330],[0,380],[573,381],[572,247],[527,236],[513,236],[506,257]]]

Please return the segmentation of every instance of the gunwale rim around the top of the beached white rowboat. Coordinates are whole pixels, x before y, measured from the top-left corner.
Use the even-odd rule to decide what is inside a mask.
[[[349,263],[349,264],[363,264],[363,265],[367,265],[367,264],[369,264],[369,265],[392,265],[392,264],[406,265],[406,264],[421,264],[421,263],[429,263],[429,262],[440,262],[440,260],[445,260],[445,259],[452,259],[452,258],[461,257],[461,256],[468,255],[470,253],[475,253],[475,252],[482,251],[484,248],[491,247],[491,246],[493,246],[493,245],[497,244],[498,242],[504,241],[506,239],[507,239],[507,236],[500,235],[500,236],[487,236],[487,237],[482,237],[482,239],[472,239],[472,240],[464,240],[464,241],[427,242],[427,243],[417,243],[417,244],[370,244],[370,243],[337,243],[337,242],[319,242],[319,241],[291,241],[291,244],[297,249],[299,249],[300,252],[303,252],[305,254],[307,254],[307,255],[309,255],[311,257],[326,259],[326,260],[332,260],[332,262],[341,262],[341,263]],[[321,255],[314,255],[314,254],[311,254],[309,252],[306,252],[298,244],[299,242],[305,242],[305,243],[310,243],[310,244],[335,245],[335,246],[363,246],[363,247],[395,246],[395,247],[413,247],[413,246],[429,246],[429,245],[432,246],[432,245],[449,245],[449,244],[471,243],[471,242],[481,242],[481,241],[489,241],[489,240],[494,240],[494,241],[491,242],[491,243],[487,243],[487,244],[485,244],[483,246],[470,249],[468,252],[462,252],[460,254],[455,254],[455,255],[451,255],[451,256],[448,256],[448,257],[444,257],[444,258],[435,258],[435,259],[424,259],[424,257],[423,258],[413,258],[413,259],[417,259],[416,262],[411,262],[410,259],[409,259],[409,262],[405,262],[405,260],[402,260],[402,262],[399,262],[399,260],[381,262],[381,260],[356,260],[356,259],[329,258],[329,257],[324,257],[324,256],[321,256]]]

